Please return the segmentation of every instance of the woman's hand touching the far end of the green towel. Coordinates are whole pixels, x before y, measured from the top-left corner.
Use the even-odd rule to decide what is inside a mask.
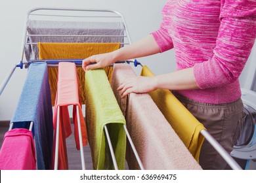
[[[90,56],[89,58],[83,59],[82,67],[84,71],[88,71],[91,69],[98,69],[102,67],[108,67],[116,60],[112,52],[106,54],[98,54],[94,56]]]

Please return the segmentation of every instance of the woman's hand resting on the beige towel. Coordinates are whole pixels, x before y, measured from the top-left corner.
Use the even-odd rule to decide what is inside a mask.
[[[121,97],[129,93],[148,93],[156,90],[156,77],[135,76],[127,78],[117,90],[121,90]]]

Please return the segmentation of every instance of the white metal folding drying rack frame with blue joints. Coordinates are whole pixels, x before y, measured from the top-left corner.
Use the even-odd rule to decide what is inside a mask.
[[[59,12],[72,12],[71,15],[70,14],[59,14]],[[74,14],[75,12],[79,12],[80,14]],[[81,15],[81,12],[89,12],[89,13],[93,13],[88,15]],[[102,15],[102,13],[104,15]],[[107,15],[106,15],[107,14]],[[123,26],[124,26],[124,31],[125,34],[124,35],[30,35],[28,34],[28,20],[30,20],[31,17],[39,17],[39,20],[41,17],[48,17],[48,18],[53,18],[53,17],[57,17],[57,18],[93,18],[93,20],[97,19],[97,18],[103,18],[103,19],[108,19],[108,18],[112,18],[112,19],[119,19],[121,20]],[[24,27],[24,41],[22,44],[22,56],[21,56],[21,61],[19,61],[16,65],[14,65],[14,67],[12,67],[11,71],[9,71],[9,73],[7,73],[6,78],[3,80],[3,82],[0,85],[0,95],[1,93],[3,93],[3,90],[5,90],[5,87],[7,86],[9,80],[11,79],[12,74],[14,73],[16,67],[20,67],[20,69],[25,67],[29,67],[30,63],[35,63],[35,62],[46,62],[47,65],[49,67],[56,67],[58,65],[58,63],[60,61],[70,61],[73,62],[77,65],[77,67],[81,67],[81,63],[82,60],[81,59],[45,59],[45,60],[39,60],[39,59],[25,59],[24,56],[24,52],[25,52],[25,45],[33,45],[33,44],[37,44],[37,42],[31,42],[29,41],[29,37],[123,37],[123,42],[120,42],[120,44],[122,46],[124,46],[125,44],[131,44],[131,38],[129,36],[129,31],[127,30],[127,25],[125,23],[125,19],[123,17],[123,15],[115,10],[98,10],[98,9],[74,9],[74,8],[33,8],[32,10],[30,10],[28,12],[28,16],[27,16],[27,21],[26,21],[26,25]],[[135,65],[135,67],[137,67],[137,65],[142,66],[141,63],[139,63],[137,61],[137,59],[133,59],[133,60],[129,60],[129,61],[117,61],[117,62],[127,62],[127,63],[133,63]],[[78,121],[80,123],[79,120],[79,115],[78,116]],[[58,108],[58,117],[59,117],[59,108]],[[57,124],[58,124],[59,119],[57,118]],[[11,124],[12,125],[12,124]],[[10,127],[11,129],[12,127]],[[135,157],[139,163],[139,167],[140,169],[144,169],[142,162],[140,161],[140,157],[139,154],[137,153],[137,150],[133,144],[133,141],[131,139],[131,136],[129,135],[129,131],[127,130],[126,125],[123,125],[123,128],[125,129],[125,133],[127,135],[127,139],[129,140],[130,144],[131,144],[131,148],[135,154]],[[106,139],[108,141],[108,145],[110,148],[110,153],[112,156],[112,161],[114,163],[114,168],[118,169],[117,167],[117,163],[116,163],[116,158],[114,155],[114,150],[112,149],[112,144],[110,141],[110,137],[108,134],[108,129],[106,127],[106,125],[104,126],[104,131],[106,134]],[[58,130],[57,132],[58,133]],[[217,150],[217,152],[223,157],[223,159],[228,163],[228,165],[230,165],[230,167],[232,169],[242,169],[240,167],[240,165],[238,165],[238,163],[230,156],[230,154],[228,154],[228,152],[226,152],[226,150],[224,150],[224,148],[219,144],[219,142],[217,142],[209,133],[207,130],[202,130],[200,132],[203,137],[205,137],[205,139],[213,146],[213,148],[215,148],[215,150]],[[57,134],[58,135],[58,134]],[[57,137],[58,139],[58,137]],[[82,144],[81,142],[81,129],[79,129],[79,143]],[[58,142],[56,142],[56,144],[58,145]],[[56,151],[58,150],[58,148],[56,148]],[[56,156],[58,156],[58,153],[55,153]],[[83,148],[81,148],[81,164],[82,164],[82,169],[85,169],[85,161],[84,161],[84,157],[83,157]],[[58,157],[55,157],[55,162],[54,162],[54,169],[57,168],[58,165]]]

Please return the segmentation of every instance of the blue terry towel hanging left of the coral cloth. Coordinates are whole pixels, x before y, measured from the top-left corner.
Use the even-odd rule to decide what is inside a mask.
[[[13,128],[26,127],[33,122],[37,169],[51,169],[53,148],[53,109],[47,64],[32,63],[12,116]]]

